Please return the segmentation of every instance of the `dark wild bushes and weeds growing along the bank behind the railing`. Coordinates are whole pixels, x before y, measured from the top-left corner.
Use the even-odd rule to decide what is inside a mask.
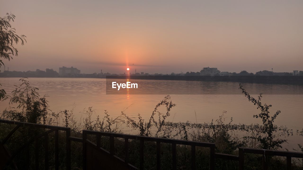
[[[10,109],[4,110],[0,116],[1,119],[41,123],[47,125],[65,126],[70,127],[72,136],[82,137],[82,130],[96,130],[103,132],[122,133],[125,132],[125,128],[132,129],[132,133],[142,136],[162,137],[169,139],[183,139],[201,142],[214,142],[216,144],[215,152],[225,154],[238,154],[238,147],[250,147],[250,148],[262,148],[262,149],[278,149],[282,148],[282,144],[287,142],[287,136],[303,135],[303,129],[294,131],[288,129],[285,126],[277,126],[274,124],[275,118],[279,115],[280,111],[270,116],[269,109],[271,105],[261,103],[262,94],[257,99],[249,95],[240,84],[239,89],[242,90],[244,95],[250,102],[255,104],[260,113],[254,115],[255,118],[261,118],[262,124],[234,124],[232,118],[226,123],[225,115],[226,111],[223,111],[222,116],[217,120],[210,123],[191,123],[191,122],[170,122],[166,119],[170,116],[172,108],[176,107],[176,104],[170,100],[170,96],[165,96],[155,107],[151,113],[151,117],[146,121],[139,114],[138,118],[132,118],[127,116],[125,110],[121,114],[112,118],[105,110],[104,117],[100,118],[99,115],[95,115],[95,111],[92,107],[83,111],[83,117],[76,119],[72,110],[62,110],[58,113],[48,110],[47,96],[40,97],[38,88],[31,87],[26,78],[20,79],[22,82],[20,86],[16,86],[11,96],[8,96],[7,100],[10,102]],[[13,107],[15,106],[15,108]],[[165,110],[161,112],[160,110]],[[96,117],[96,118],[93,118]],[[13,126],[7,124],[0,125],[0,138],[3,139]],[[37,131],[38,129],[36,129]],[[41,129],[40,129],[41,130]],[[19,132],[15,133],[8,145],[8,148],[14,150],[16,145],[21,145],[26,142],[32,136],[35,135],[35,129],[23,128]],[[137,132],[137,133],[136,133]],[[241,134],[241,136],[240,136]],[[60,133],[60,159],[65,159],[65,137],[64,133]],[[25,138],[26,136],[26,138]],[[284,139],[280,139],[284,137]],[[95,138],[89,137],[93,142]],[[53,142],[54,136],[50,136],[50,145]],[[302,146],[298,144],[299,148]],[[81,168],[82,166],[82,143],[72,142],[72,167],[74,169]],[[102,147],[109,149],[109,138],[102,137]],[[138,166],[139,156],[139,142],[135,140],[129,141],[129,161],[135,166]],[[32,149],[31,149],[32,148]],[[303,151],[303,149],[302,149]],[[40,150],[43,152],[43,147]],[[161,145],[162,152],[162,168],[171,168],[171,145]],[[124,155],[124,141],[115,139],[115,153],[123,158]],[[209,150],[205,148],[197,148],[196,163],[197,169],[208,169]],[[50,151],[50,154],[54,154]],[[177,145],[177,165],[180,169],[190,169],[190,148],[187,146]],[[21,167],[26,164],[26,159],[29,159],[30,164],[34,164],[34,146],[31,146],[29,150],[22,151],[15,158]],[[41,154],[43,155],[43,154]],[[53,155],[52,155],[53,157]],[[43,158],[41,158],[43,159]],[[155,143],[145,143],[145,168],[155,168]],[[271,169],[284,169],[285,158],[269,157],[271,161]],[[245,166],[247,169],[261,169],[262,156],[247,155]],[[54,160],[51,159],[50,163]],[[295,160],[293,162],[293,168],[302,168],[300,164],[301,160]],[[43,165],[43,163],[41,163]],[[41,165],[41,166],[42,166]],[[60,165],[60,168],[64,168],[65,164]],[[30,166],[31,167],[31,166]],[[32,167],[34,167],[32,165]],[[229,161],[224,159],[216,160],[216,169],[237,169],[238,162]],[[31,169],[31,168],[29,168]]]

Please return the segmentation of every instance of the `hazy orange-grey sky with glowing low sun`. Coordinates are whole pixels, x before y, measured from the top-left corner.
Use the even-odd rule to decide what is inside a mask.
[[[27,36],[10,70],[303,70],[302,0],[0,0]],[[134,65],[133,65],[134,64]]]

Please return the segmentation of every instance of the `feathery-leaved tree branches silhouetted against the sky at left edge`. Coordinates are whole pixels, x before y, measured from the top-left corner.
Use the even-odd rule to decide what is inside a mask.
[[[0,17],[0,58],[7,59],[8,61],[13,59],[12,56],[18,56],[18,50],[14,47],[21,41],[21,45],[24,45],[25,35],[18,36],[16,29],[12,28],[11,21],[14,22],[15,15],[6,13],[5,17]],[[4,65],[3,61],[0,60],[0,67]],[[1,84],[0,84],[1,85]],[[4,89],[0,89],[0,100],[5,99],[6,92]]]

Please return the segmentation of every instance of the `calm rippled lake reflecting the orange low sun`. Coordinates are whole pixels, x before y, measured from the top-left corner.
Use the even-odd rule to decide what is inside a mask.
[[[13,85],[20,84],[18,80],[19,78],[0,78],[0,83],[2,88],[10,93],[14,90]],[[232,117],[234,123],[262,123],[261,119],[253,118],[253,115],[258,114],[259,110],[241,93],[237,82],[169,80],[171,83],[178,83],[184,89],[195,88],[195,94],[176,94],[170,91],[172,88],[170,86],[162,86],[160,91],[157,90],[157,86],[152,86],[154,91],[148,94],[132,94],[132,91],[136,89],[128,89],[128,92],[122,94],[107,94],[106,79],[28,78],[28,80],[32,87],[39,88],[40,96],[48,95],[48,104],[53,112],[65,109],[73,110],[78,119],[82,116],[81,112],[91,106],[96,115],[100,115],[100,117],[103,117],[104,110],[108,111],[110,117],[117,117],[122,110],[128,108],[125,110],[128,116],[137,118],[138,114],[141,114],[143,119],[148,119],[156,104],[166,95],[170,95],[176,106],[171,110],[169,121],[208,123],[212,119],[218,119],[223,111],[227,111],[226,122]],[[151,84],[167,84],[168,80],[134,81],[138,83],[140,88]],[[302,86],[258,83],[243,83],[243,86],[249,93],[253,94],[253,97],[257,97],[258,93],[265,93],[261,101],[272,105],[270,109],[272,114],[281,110],[275,121],[277,125],[285,125],[290,129],[303,128]],[[163,88],[164,90],[167,88],[167,94],[163,92]],[[270,89],[269,92],[268,89]],[[214,91],[216,93],[213,93]],[[0,102],[1,111],[7,107],[8,101]]]

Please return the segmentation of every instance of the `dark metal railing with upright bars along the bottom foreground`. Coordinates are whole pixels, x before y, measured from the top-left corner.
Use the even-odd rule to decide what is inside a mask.
[[[95,135],[96,139],[96,146],[101,148],[101,136],[109,137],[110,139],[110,147],[109,147],[109,154],[111,156],[117,157],[115,155],[115,143],[114,138],[122,138],[124,139],[125,144],[125,163],[129,163],[128,160],[128,145],[129,139],[131,140],[139,140],[140,141],[140,151],[139,151],[139,169],[144,169],[144,143],[145,141],[148,142],[156,142],[156,161],[157,161],[157,170],[161,169],[161,143],[169,143],[172,144],[172,169],[176,169],[176,145],[189,145],[191,146],[191,169],[196,169],[196,147],[206,147],[210,148],[210,160],[209,160],[209,167],[211,170],[215,168],[215,159],[228,159],[233,161],[238,161],[239,163],[239,170],[244,169],[244,159],[245,153],[252,153],[252,154],[261,154],[263,155],[263,169],[267,169],[266,160],[267,155],[273,156],[284,156],[286,157],[286,164],[287,169],[291,169],[291,158],[303,158],[302,152],[289,152],[289,151],[276,151],[276,150],[268,150],[268,149],[252,149],[252,148],[239,148],[239,155],[228,155],[222,153],[215,153],[215,143],[208,143],[208,142],[195,142],[195,141],[185,141],[185,140],[177,140],[177,139],[166,139],[166,138],[155,138],[155,137],[148,137],[148,136],[138,136],[138,135],[126,135],[126,134],[119,134],[119,133],[109,133],[109,132],[99,132],[99,131],[90,131],[90,130],[83,130],[82,131],[82,138],[72,137],[71,129],[66,127],[60,126],[49,126],[49,125],[41,125],[35,123],[24,123],[24,122],[17,122],[17,121],[9,121],[0,119],[0,123],[6,124],[14,124],[16,125],[14,129],[2,140],[2,145],[4,145],[8,139],[12,136],[12,134],[20,127],[28,126],[33,128],[42,128],[42,129],[49,129],[41,134],[36,135],[33,139],[30,139],[24,145],[22,145],[15,153],[13,153],[9,161],[12,161],[15,156],[25,147],[27,147],[32,142],[35,142],[35,167],[39,169],[39,142],[38,139],[44,137],[44,146],[45,146],[45,169],[48,170],[48,134],[51,132],[55,132],[55,169],[59,169],[59,131],[65,131],[65,140],[66,140],[66,169],[71,169],[71,141],[81,142],[83,144],[83,169],[86,170],[86,144],[92,143],[90,140],[87,139],[87,135]]]

